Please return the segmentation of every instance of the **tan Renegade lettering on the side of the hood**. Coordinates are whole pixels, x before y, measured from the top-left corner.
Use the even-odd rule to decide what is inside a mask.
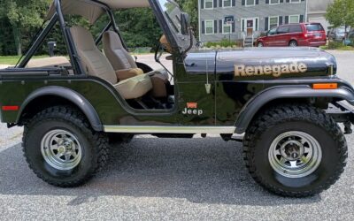
[[[235,77],[273,75],[280,77],[283,73],[307,72],[307,65],[304,63],[291,63],[282,65],[246,66],[235,65]]]

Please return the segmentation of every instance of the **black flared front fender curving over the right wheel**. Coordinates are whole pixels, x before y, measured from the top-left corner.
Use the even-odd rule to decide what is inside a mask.
[[[235,133],[244,133],[258,110],[266,105],[266,103],[283,98],[309,97],[338,98],[340,100],[346,100],[351,105],[354,105],[354,93],[350,88],[346,87],[321,90],[312,89],[310,86],[268,88],[258,95],[255,95],[248,103],[246,103],[246,105],[244,105],[235,123]]]

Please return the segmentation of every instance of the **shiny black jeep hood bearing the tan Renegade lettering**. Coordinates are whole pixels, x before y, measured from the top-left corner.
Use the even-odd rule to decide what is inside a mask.
[[[314,48],[195,50],[185,61],[190,73],[205,74],[214,65],[217,75],[233,74],[238,80],[324,76],[336,72],[335,57]]]

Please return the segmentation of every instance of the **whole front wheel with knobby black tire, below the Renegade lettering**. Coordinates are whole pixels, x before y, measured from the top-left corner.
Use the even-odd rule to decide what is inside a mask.
[[[297,156],[295,152],[287,156],[286,151],[281,151],[294,150],[292,140],[307,149],[307,154],[299,153],[304,154],[304,162],[292,158]],[[274,145],[277,141],[278,146]],[[282,155],[292,158],[293,164],[284,163],[287,158]],[[335,184],[346,165],[348,149],[341,129],[325,111],[305,104],[287,104],[266,110],[251,123],[243,140],[243,157],[252,178],[268,191],[306,197]],[[291,171],[291,166],[298,171]]]

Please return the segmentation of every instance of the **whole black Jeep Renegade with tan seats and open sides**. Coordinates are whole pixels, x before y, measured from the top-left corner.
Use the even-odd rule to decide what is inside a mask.
[[[113,12],[150,7],[164,35],[155,59],[173,71],[135,62]],[[96,41],[68,15],[109,24]],[[59,24],[66,57],[32,59]],[[102,46],[104,53],[98,50]],[[99,171],[109,141],[135,134],[192,138],[217,133],[238,141],[251,176],[275,194],[318,194],[339,179],[344,133],[354,122],[354,89],[335,58],[312,48],[200,50],[189,15],[171,0],[55,0],[45,28],[19,65],[0,71],[1,120],[24,126],[23,149],[35,174],[74,187]],[[216,149],[218,147],[215,147]]]

